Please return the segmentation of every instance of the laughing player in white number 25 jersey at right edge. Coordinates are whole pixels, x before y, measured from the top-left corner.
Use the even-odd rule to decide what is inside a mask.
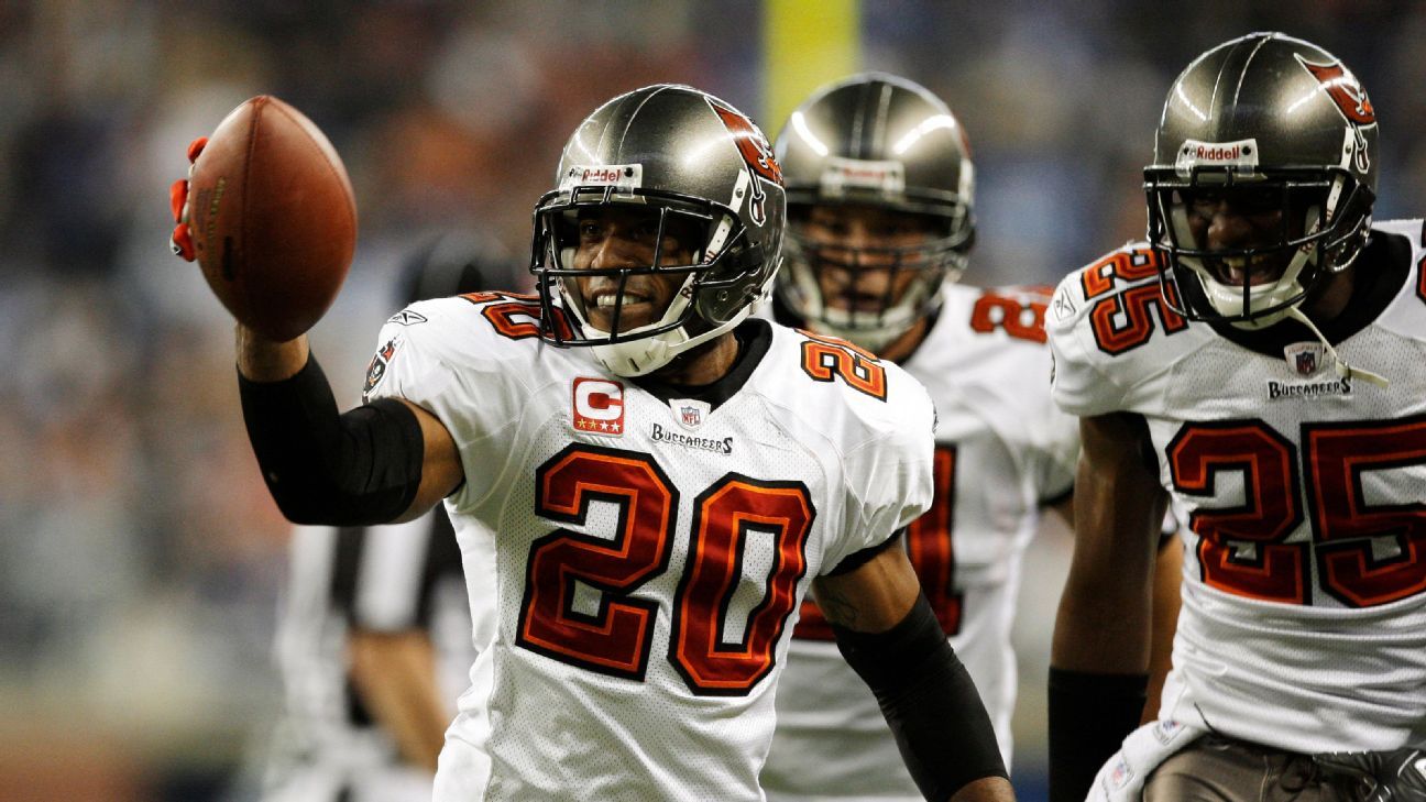
[[[1372,224],[1380,156],[1330,53],[1221,44],[1169,88],[1148,243],[1055,291],[1084,452],[1052,799],[1422,799],[1426,230]],[[1169,497],[1191,529],[1174,669],[1124,739]]]

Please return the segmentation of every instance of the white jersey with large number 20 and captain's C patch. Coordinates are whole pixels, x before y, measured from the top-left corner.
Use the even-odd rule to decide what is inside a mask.
[[[538,314],[499,293],[415,304],[368,372],[368,397],[453,437],[446,508],[495,611],[436,799],[761,799],[811,579],[930,505],[930,398],[760,320],[727,377],[680,397],[542,342]]]

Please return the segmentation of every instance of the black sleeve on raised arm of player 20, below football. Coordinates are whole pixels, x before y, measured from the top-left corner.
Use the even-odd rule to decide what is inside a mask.
[[[338,414],[315,357],[291,378],[238,372],[242,420],[268,491],[295,524],[385,524],[421,485],[421,421],[394,398]]]

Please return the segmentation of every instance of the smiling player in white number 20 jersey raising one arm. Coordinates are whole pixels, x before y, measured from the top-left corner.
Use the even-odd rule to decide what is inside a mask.
[[[305,337],[238,330],[282,511],[372,522],[445,499],[469,591],[493,604],[436,799],[761,799],[813,584],[923,792],[1011,799],[890,548],[931,497],[924,388],[747,321],[786,203],[763,134],[709,94],[646,87],[576,128],[556,181],[535,213],[539,295],[409,307],[345,415]]]

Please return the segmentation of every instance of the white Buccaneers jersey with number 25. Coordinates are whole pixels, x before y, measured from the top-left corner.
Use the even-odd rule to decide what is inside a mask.
[[[1422,221],[1376,225],[1348,313],[1188,323],[1158,255],[1071,274],[1048,328],[1068,412],[1144,415],[1188,515],[1161,718],[1293,752],[1426,743],[1426,273]]]

